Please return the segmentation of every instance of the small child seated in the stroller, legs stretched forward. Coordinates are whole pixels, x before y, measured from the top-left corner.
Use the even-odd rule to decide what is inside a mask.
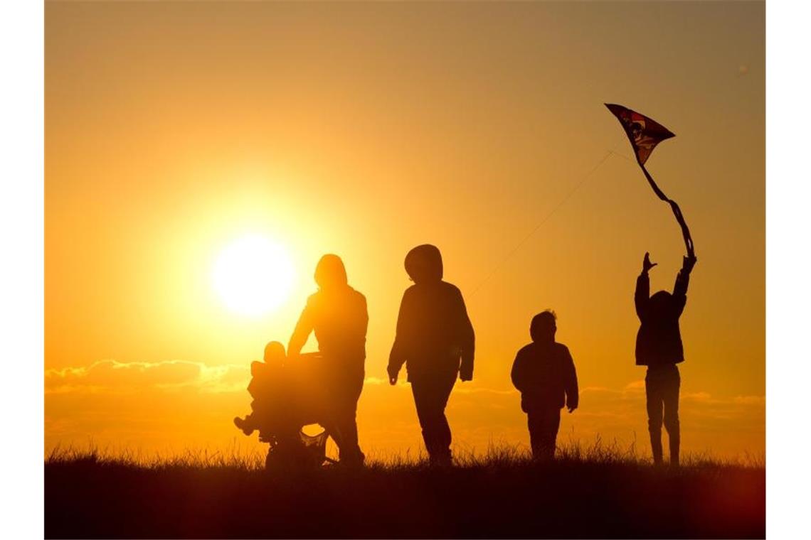
[[[251,414],[243,419],[234,418],[234,424],[245,435],[268,427],[283,410],[278,405],[284,400],[284,368],[285,346],[280,342],[269,342],[264,347],[264,362],[251,362],[251,382],[248,383],[248,392],[253,398]]]

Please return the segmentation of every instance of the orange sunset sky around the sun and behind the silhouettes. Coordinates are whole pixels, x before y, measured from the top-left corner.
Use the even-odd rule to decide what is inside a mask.
[[[763,2],[47,2],[45,15],[46,452],[260,449],[231,423],[250,410],[251,360],[286,344],[315,262],[337,253],[370,317],[361,446],[417,453],[410,390],[385,365],[403,258],[432,243],[477,336],[474,381],[448,405],[457,449],[526,445],[509,370],[530,318],[553,308],[581,387],[559,442],[636,437],[646,453],[633,287],[650,251],[651,287],[671,289],[684,244],[604,102],[676,134],[647,167],[698,257],[684,449],[765,450]],[[294,271],[261,316],[212,279],[251,237]]]

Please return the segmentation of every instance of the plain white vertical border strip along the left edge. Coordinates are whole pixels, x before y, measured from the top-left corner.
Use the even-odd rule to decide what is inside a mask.
[[[3,538],[44,535],[44,8],[0,7]]]

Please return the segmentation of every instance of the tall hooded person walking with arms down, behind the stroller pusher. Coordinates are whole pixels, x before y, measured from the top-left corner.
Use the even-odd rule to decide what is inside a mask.
[[[405,364],[431,463],[449,464],[451,429],[445,406],[457,374],[461,381],[473,379],[473,325],[459,289],[442,280],[442,256],[436,246],[412,249],[405,256],[405,271],[414,285],[405,290],[400,304],[388,381],[396,384]]]

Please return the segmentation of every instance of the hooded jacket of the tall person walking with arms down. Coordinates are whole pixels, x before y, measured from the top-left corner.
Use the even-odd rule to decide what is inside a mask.
[[[439,249],[424,244],[405,257],[414,285],[405,290],[388,372],[405,364],[408,380],[423,376],[473,376],[474,330],[461,291],[442,280]],[[461,360],[461,362],[460,362]]]

